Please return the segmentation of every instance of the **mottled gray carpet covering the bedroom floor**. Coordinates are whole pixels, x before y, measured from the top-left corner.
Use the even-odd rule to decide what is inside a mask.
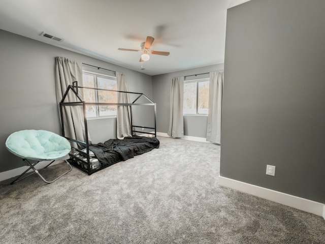
[[[159,149],[90,176],[0,182],[0,242],[325,243],[323,218],[219,187],[218,145],[158,139]]]

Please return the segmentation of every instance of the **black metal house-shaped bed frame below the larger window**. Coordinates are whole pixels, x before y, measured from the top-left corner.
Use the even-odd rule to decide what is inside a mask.
[[[131,103],[103,103],[103,102],[85,102],[81,96],[79,95],[78,89],[93,89],[93,90],[105,90],[105,91],[109,91],[109,92],[116,92],[116,93],[126,93],[126,94],[135,94],[138,95],[138,97]],[[69,93],[73,93],[76,97],[77,102],[64,102],[64,100],[66,100],[67,96]],[[145,98],[146,100],[148,100],[148,103],[137,103],[137,101],[141,98]],[[102,88],[94,88],[94,87],[83,87],[83,86],[78,86],[78,82],[75,81],[73,82],[73,85],[69,85],[66,92],[64,93],[61,102],[60,102],[60,117],[61,117],[61,127],[62,127],[62,136],[67,138],[69,141],[71,142],[75,142],[78,145],[80,145],[82,148],[86,149],[86,153],[84,151],[82,151],[82,149],[80,148],[76,148],[74,146],[72,146],[72,149],[77,151],[79,154],[83,155],[86,159],[85,160],[81,160],[80,158],[78,158],[78,160],[83,161],[83,165],[86,165],[87,167],[82,167],[76,163],[74,163],[74,160],[70,160],[70,163],[74,166],[76,166],[77,168],[85,171],[86,173],[88,173],[88,175],[99,171],[101,169],[104,169],[108,166],[103,166],[101,168],[98,169],[91,169],[90,167],[90,157],[89,157],[89,140],[88,140],[88,126],[87,126],[87,116],[86,116],[86,107],[87,106],[96,106],[96,105],[104,105],[104,106],[129,106],[130,110],[131,110],[131,131],[132,131],[132,135],[134,135],[135,133],[144,133],[143,131],[139,131],[136,130],[137,128],[144,128],[144,129],[150,129],[150,130],[154,130],[154,132],[145,132],[145,134],[149,134],[149,135],[154,135],[154,137],[156,137],[156,104],[151,101],[147,96],[145,96],[143,93],[134,93],[134,92],[124,92],[121,90],[110,90],[110,89],[102,89]],[[64,131],[64,119],[63,119],[63,107],[66,106],[82,106],[83,108],[83,115],[84,115],[84,133],[85,133],[85,141],[79,141],[76,139],[72,139],[66,136],[65,131]],[[146,127],[146,126],[139,126],[139,125],[134,125],[134,121],[133,121],[133,116],[132,116],[132,106],[154,106],[154,127]],[[70,153],[69,154],[71,159],[73,159],[75,156],[74,154]]]

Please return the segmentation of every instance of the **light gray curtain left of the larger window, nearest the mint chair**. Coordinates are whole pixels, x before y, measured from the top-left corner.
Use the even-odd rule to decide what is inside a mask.
[[[55,87],[56,99],[60,103],[63,94],[66,92],[68,85],[78,81],[78,85],[82,86],[82,63],[76,62],[65,57],[55,58]],[[82,97],[83,91],[79,89]],[[77,102],[76,96],[69,93],[64,102]],[[66,106],[63,108],[64,131],[67,137],[72,139],[85,141],[84,115],[82,106]],[[62,125],[61,125],[62,126]],[[88,137],[90,140],[90,137]],[[77,147],[76,143],[72,143]]]

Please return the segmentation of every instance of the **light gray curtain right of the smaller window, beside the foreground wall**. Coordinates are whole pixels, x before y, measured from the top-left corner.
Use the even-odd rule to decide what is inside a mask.
[[[210,73],[207,141],[220,144],[223,70]]]

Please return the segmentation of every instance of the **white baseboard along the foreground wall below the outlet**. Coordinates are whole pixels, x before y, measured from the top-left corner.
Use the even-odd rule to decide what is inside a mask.
[[[263,187],[247,184],[235,179],[219,175],[219,185],[229,187],[240,192],[248,193],[286,206],[294,207],[311,214],[322,216],[325,219],[325,205],[320,202],[296,197],[282,192],[277,192]]]

